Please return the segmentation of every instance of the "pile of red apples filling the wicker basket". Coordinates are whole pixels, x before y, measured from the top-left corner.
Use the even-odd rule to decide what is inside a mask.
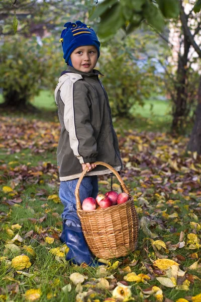
[[[105,209],[112,205],[124,203],[129,200],[129,195],[127,193],[118,194],[115,191],[107,192],[104,194],[98,194],[96,199],[93,197],[87,197],[83,200],[82,210],[83,211],[91,211],[91,210],[99,210]]]

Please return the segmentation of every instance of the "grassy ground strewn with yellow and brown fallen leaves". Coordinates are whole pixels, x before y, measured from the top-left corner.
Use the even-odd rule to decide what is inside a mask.
[[[200,157],[187,138],[117,127],[122,177],[141,221],[137,250],[70,265],[59,236],[59,123],[1,117],[1,301],[201,301]],[[113,189],[121,192],[116,180]],[[99,191],[110,190],[110,176]]]

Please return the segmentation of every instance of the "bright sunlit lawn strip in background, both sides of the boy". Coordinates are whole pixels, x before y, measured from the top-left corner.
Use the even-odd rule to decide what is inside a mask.
[[[0,95],[0,103],[3,102],[2,95]],[[43,120],[58,120],[57,106],[54,101],[54,92],[43,90],[39,96],[32,100],[32,105],[36,106],[42,112],[32,113],[26,115],[28,119],[43,119]],[[156,99],[146,100],[143,107],[134,105],[131,109],[130,120],[114,118],[114,124],[121,124],[124,128],[134,128],[150,131],[169,131],[171,124],[171,116],[169,114],[169,101],[160,101]],[[3,113],[7,114],[7,113]],[[15,115],[15,113],[13,113]],[[25,113],[17,112],[17,116],[24,117]]]

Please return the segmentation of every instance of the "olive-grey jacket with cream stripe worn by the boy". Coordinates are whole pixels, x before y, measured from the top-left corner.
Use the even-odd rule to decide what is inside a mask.
[[[98,74],[95,69],[81,72],[68,66],[59,78],[55,101],[61,124],[57,148],[60,181],[79,178],[84,163],[102,161],[117,171],[122,169],[108,96]],[[97,166],[87,176],[108,173],[106,167]]]

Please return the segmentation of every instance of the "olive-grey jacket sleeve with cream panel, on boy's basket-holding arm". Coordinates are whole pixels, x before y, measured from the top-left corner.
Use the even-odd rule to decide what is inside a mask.
[[[73,89],[65,100],[64,124],[69,132],[70,147],[80,164],[95,162],[98,154],[89,107],[87,92],[82,89]]]

